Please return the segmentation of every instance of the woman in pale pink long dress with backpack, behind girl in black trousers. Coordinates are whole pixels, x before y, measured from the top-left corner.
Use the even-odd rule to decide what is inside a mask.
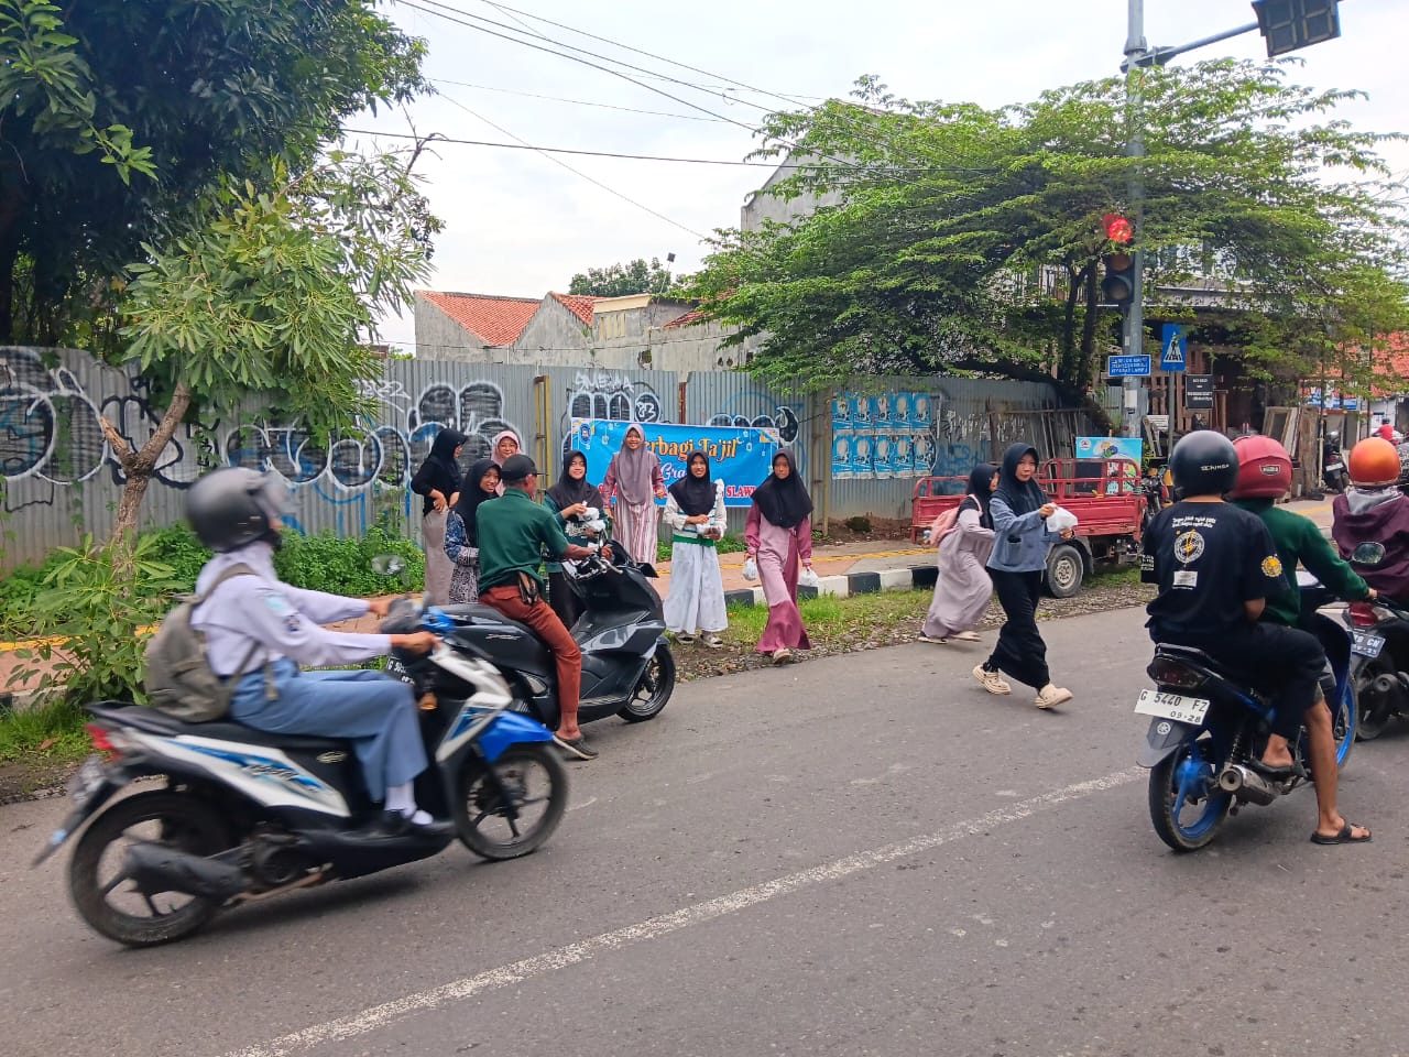
[[[938,545],[938,576],[920,641],[978,641],[974,627],[983,619],[993,598],[993,581],[988,578],[985,565],[993,552],[993,514],[988,500],[995,488],[998,466],[992,462],[974,466],[958,520],[943,540],[931,540]]]

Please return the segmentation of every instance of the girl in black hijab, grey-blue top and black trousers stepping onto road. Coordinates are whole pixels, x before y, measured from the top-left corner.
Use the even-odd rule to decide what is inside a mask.
[[[989,693],[1012,693],[1003,678],[1012,675],[1037,691],[1033,702],[1051,709],[1071,700],[1071,691],[1054,686],[1047,669],[1047,643],[1037,630],[1037,600],[1047,572],[1047,551],[1071,531],[1054,533],[1047,519],[1057,510],[1037,483],[1041,458],[1031,444],[1013,444],[1003,452],[998,490],[989,503],[993,516],[993,552],[988,572],[1007,620],[998,633],[998,644],[974,678]]]

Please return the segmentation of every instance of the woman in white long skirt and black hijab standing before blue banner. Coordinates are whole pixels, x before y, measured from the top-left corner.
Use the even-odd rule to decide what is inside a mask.
[[[669,488],[665,523],[671,527],[671,589],[665,593],[665,627],[682,643],[699,634],[704,645],[724,645],[728,627],[724,579],[714,541],[724,538],[724,482],[710,481],[709,455],[692,451],[685,476]]]

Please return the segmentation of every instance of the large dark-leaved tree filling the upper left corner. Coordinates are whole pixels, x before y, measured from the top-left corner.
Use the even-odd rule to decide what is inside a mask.
[[[230,179],[299,175],[423,90],[376,0],[0,0],[0,342],[120,345],[123,269]]]

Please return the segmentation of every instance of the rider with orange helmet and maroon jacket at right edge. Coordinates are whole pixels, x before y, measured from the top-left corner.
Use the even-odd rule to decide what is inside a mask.
[[[1332,503],[1340,555],[1381,595],[1409,602],[1409,502],[1396,485],[1399,452],[1379,437],[1350,451],[1350,483]]]

